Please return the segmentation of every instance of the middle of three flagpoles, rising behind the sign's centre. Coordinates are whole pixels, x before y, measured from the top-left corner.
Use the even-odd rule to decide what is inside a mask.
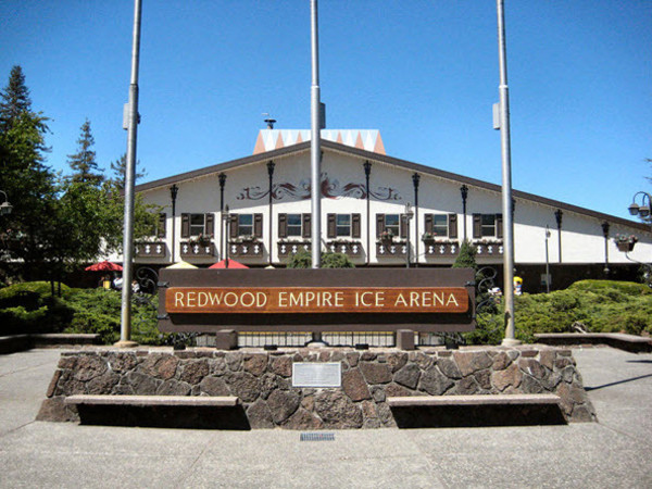
[[[312,267],[319,268],[322,259],[322,140],[319,124],[319,39],[317,35],[317,0],[310,2],[312,86],[311,95],[311,201],[312,201]]]

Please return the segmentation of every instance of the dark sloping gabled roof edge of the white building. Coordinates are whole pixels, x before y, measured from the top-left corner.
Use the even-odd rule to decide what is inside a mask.
[[[359,148],[353,148],[350,146],[346,146],[339,142],[329,141],[326,139],[322,139],[322,150],[331,150],[338,153],[347,154],[349,156],[360,158],[361,160],[368,160],[369,162],[385,163],[391,166],[398,166],[408,171],[416,172],[424,175],[434,176],[437,178],[441,178],[444,180],[450,180],[460,185],[466,185],[468,187],[476,187],[484,190],[489,190],[492,192],[501,192],[501,186],[496,184],[490,184],[488,181],[478,180],[475,178],[471,178],[464,175],[459,175],[451,172],[446,172],[443,170],[432,168],[430,166],[425,166],[418,163],[413,163],[405,160],[400,160],[398,158],[388,156],[386,154],[380,154],[372,151],[366,151]],[[168,187],[173,184],[178,184],[184,180],[193,180],[197,178],[201,178],[204,176],[209,176],[212,174],[217,174],[222,172],[227,172],[231,168],[236,168],[239,166],[256,164],[262,162],[267,162],[274,159],[280,159],[284,156],[298,154],[302,152],[310,151],[311,142],[304,141],[293,146],[286,146],[280,149],[276,149],[273,151],[267,151],[264,153],[253,154],[251,156],[241,158],[238,160],[231,160],[225,163],[220,163],[216,165],[206,166],[203,168],[195,170],[192,172],[186,172],[178,175],[174,175],[167,178],[161,178],[159,180],[149,181],[147,184],[141,184],[136,186],[135,190],[137,192],[145,192],[148,190],[153,190],[160,187]],[[565,202],[561,202],[553,199],[548,199],[546,197],[536,196],[534,193],[524,192],[521,190],[513,190],[514,199],[525,200],[542,205],[547,205],[550,208],[560,209],[562,211],[574,212],[576,214],[586,215],[589,217],[593,217],[599,221],[606,221],[611,224],[620,224],[624,226],[632,227],[640,229],[642,231],[649,233],[649,225],[644,223],[638,223],[636,221],[624,220],[622,217],[617,217],[610,214],[604,214],[597,211],[591,211],[590,209],[580,208],[577,205],[568,204]]]

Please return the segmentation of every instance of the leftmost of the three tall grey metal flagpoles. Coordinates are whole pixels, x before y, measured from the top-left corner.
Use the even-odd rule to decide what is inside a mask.
[[[129,85],[127,165],[125,168],[125,222],[123,237],[123,287],[120,341],[116,347],[135,347],[131,341],[131,276],[134,256],[134,177],[138,133],[138,61],[140,53],[141,0],[134,0],[134,41],[131,46],[131,82]]]

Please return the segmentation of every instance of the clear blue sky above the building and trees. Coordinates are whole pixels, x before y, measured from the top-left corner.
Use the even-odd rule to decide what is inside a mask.
[[[506,0],[513,186],[627,216],[652,190],[652,2]],[[67,170],[88,117],[98,162],[126,149],[133,0],[0,1],[0,76],[20,64]],[[496,2],[322,0],[329,128],[389,155],[500,184]],[[310,128],[309,0],[143,0],[138,158],[146,180],[252,153],[262,113]]]

